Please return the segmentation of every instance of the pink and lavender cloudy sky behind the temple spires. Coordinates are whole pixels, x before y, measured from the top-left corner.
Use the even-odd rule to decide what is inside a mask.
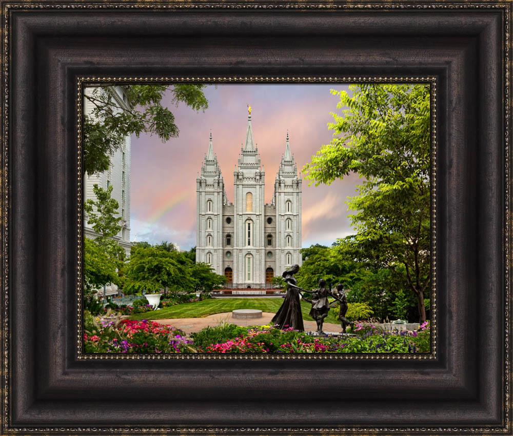
[[[265,202],[271,200],[274,178],[285,151],[287,130],[298,171],[331,141],[327,123],[339,98],[329,90],[346,85],[218,85],[208,86],[209,108],[196,113],[185,105],[168,106],[180,136],[167,143],[156,136],[132,137],[130,239],[151,244],[168,241],[182,249],[196,245],[196,176],[207,152],[210,130],[223,173],[228,200],[233,201],[233,170],[252,107],[253,139],[265,171]],[[330,245],[351,234],[344,203],[355,195],[357,175],[329,186],[308,186],[303,180],[303,247]]]

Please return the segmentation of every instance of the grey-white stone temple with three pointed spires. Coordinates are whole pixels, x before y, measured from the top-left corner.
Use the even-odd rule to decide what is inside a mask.
[[[196,179],[196,261],[225,275],[228,288],[270,288],[273,276],[302,264],[301,177],[288,133],[270,204],[264,204],[265,172],[253,142],[251,115],[233,176],[230,203],[210,134]]]

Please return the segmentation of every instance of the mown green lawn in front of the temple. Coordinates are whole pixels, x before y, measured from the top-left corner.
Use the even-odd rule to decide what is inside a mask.
[[[154,312],[139,313],[130,316],[131,320],[163,320],[168,318],[203,318],[214,313],[231,312],[233,309],[260,309],[263,312],[276,313],[283,303],[282,298],[219,298],[198,301],[195,303],[177,304],[176,306],[166,307],[165,309]],[[311,304],[305,301],[301,302],[303,319],[305,321],[314,321],[308,312]],[[339,324],[339,320],[330,310],[327,323]]]

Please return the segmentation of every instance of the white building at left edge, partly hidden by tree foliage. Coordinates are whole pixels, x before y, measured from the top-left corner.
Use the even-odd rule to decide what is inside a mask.
[[[127,99],[122,87],[117,86],[114,88],[115,103],[122,108],[128,109]],[[92,88],[86,88],[85,93],[90,94]],[[84,97],[84,112],[91,116],[93,111],[93,103]],[[93,192],[93,186],[97,184],[103,189],[112,186],[112,198],[117,200],[120,205],[119,215],[121,216],[120,224],[121,231],[115,236],[115,239],[130,255],[130,136],[125,138],[125,143],[121,149],[114,152],[111,156],[110,166],[107,171],[99,174],[88,175],[84,174],[84,202],[86,200],[95,200],[96,196]],[[87,223],[88,214],[84,212],[84,237],[94,239],[96,233]],[[108,287],[109,293],[115,293],[117,288],[115,285]]]

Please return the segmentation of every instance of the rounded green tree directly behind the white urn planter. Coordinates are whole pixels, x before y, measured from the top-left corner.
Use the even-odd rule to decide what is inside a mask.
[[[124,268],[124,289],[128,293],[150,293],[167,288],[193,289],[191,262],[181,253],[160,247],[132,247]]]

